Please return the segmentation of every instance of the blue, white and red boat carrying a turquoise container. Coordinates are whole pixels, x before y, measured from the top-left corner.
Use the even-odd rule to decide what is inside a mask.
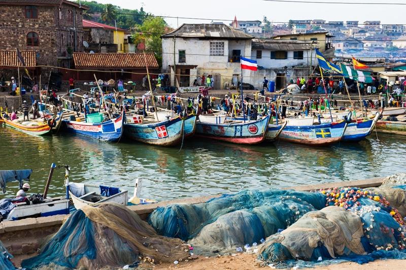
[[[63,128],[67,132],[108,142],[118,141],[123,134],[124,111],[114,114],[110,120],[98,112],[87,114],[84,119],[83,116],[76,119],[72,113],[76,112],[63,114]]]

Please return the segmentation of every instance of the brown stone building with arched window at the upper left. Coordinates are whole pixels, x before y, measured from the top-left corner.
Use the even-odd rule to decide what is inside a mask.
[[[71,67],[73,53],[83,51],[87,7],[67,0],[0,0],[0,9],[0,50],[33,51],[37,65],[51,67]]]

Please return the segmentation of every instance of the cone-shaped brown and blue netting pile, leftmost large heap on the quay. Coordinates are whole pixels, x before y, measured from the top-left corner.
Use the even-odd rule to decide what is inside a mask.
[[[187,250],[186,250],[186,249]],[[119,204],[96,204],[75,211],[22,267],[58,265],[69,268],[123,267],[140,257],[152,263],[185,259],[189,253],[180,239],[166,238]]]

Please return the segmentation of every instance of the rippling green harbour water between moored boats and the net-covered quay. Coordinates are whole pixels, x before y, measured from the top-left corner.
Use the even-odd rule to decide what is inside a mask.
[[[0,170],[32,169],[31,192],[43,192],[51,163],[69,165],[70,180],[118,186],[156,200],[214,195],[244,188],[278,188],[364,179],[404,172],[404,136],[376,134],[360,143],[314,148],[290,143],[241,146],[191,138],[180,147],[103,143],[79,136],[35,137],[0,128]],[[64,194],[64,169],[55,170],[49,195]],[[17,192],[8,184],[6,195]]]

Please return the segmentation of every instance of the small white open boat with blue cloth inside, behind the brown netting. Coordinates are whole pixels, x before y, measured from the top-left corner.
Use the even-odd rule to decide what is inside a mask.
[[[117,203],[127,205],[128,191],[117,187],[69,183],[69,196],[76,209],[95,203]]]

